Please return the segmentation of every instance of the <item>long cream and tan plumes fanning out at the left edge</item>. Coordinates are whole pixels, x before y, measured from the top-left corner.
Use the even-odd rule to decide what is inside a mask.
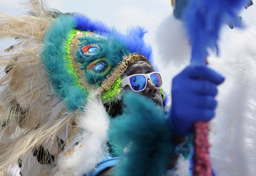
[[[44,14],[47,10],[42,4],[32,0],[32,10]],[[11,17],[0,13],[0,39],[18,38],[16,45],[0,56],[0,67],[6,68],[0,78],[0,170],[15,168],[24,158],[24,175],[33,175],[34,170],[38,175],[49,173],[51,167],[41,166],[31,151],[42,145],[55,155],[57,134],[62,131],[68,136],[65,129],[77,117],[75,112],[65,114],[67,109],[53,93],[39,58],[45,31],[53,18],[46,13],[38,15]]]

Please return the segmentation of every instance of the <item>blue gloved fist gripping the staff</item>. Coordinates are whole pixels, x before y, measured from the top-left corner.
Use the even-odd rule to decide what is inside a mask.
[[[217,85],[224,77],[206,66],[188,66],[172,80],[169,124],[173,133],[187,136],[198,121],[210,121],[217,106]]]

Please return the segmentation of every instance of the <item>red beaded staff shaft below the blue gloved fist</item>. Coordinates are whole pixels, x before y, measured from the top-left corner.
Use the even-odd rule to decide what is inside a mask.
[[[211,160],[209,155],[209,124],[197,122],[194,125],[194,155],[193,176],[212,176]]]

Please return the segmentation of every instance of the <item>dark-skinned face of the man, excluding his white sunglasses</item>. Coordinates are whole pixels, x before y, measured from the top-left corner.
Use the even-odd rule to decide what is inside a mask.
[[[145,61],[138,61],[131,64],[125,71],[126,76],[133,74],[148,74],[154,72],[154,70],[149,66]],[[125,89],[130,89],[128,85],[125,86]],[[156,104],[159,104],[163,107],[162,95],[160,90],[148,79],[147,86],[145,90],[139,92],[140,94],[151,98]]]

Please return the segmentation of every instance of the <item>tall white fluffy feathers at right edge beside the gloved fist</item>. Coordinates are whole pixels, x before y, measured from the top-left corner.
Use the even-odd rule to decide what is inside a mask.
[[[212,166],[219,176],[256,175],[256,28],[232,30],[222,58],[210,60],[226,77],[211,134]]]

